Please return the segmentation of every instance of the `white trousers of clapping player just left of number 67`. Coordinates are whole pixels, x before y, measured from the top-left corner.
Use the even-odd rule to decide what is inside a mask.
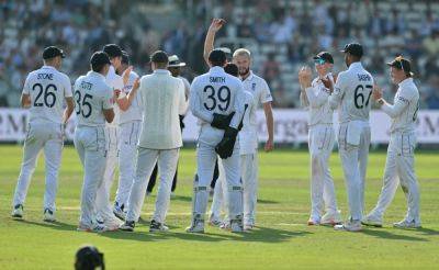
[[[337,213],[336,192],[329,170],[329,157],[334,143],[333,124],[309,126],[311,216],[315,221],[320,220],[324,209],[327,213]]]

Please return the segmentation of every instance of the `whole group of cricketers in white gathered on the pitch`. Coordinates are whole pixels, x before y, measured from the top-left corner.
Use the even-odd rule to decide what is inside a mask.
[[[222,19],[213,20],[203,54],[210,69],[191,85],[180,76],[180,67],[185,64],[178,56],[155,52],[150,56],[153,72],[139,77],[130,66],[128,54],[116,44],[108,44],[92,54],[90,71],[80,76],[71,88],[69,77],[58,71],[65,58],[63,49],[45,48],[44,66],[32,71],[23,87],[21,103],[30,108],[30,123],[12,216],[23,218],[36,158],[44,150],[43,215],[46,222],[56,221],[64,130],[75,112],[74,143],[83,168],[78,230],[134,230],[157,168],[160,181],[149,232],[168,230],[166,215],[177,185],[183,119],[190,110],[198,119],[199,136],[192,217],[187,232],[204,233],[211,187],[214,194],[209,224],[236,233],[252,229],[258,193],[256,112],[262,106],[268,131],[264,150],[271,151],[272,97],[267,82],[251,71],[248,49],[238,48],[232,54],[228,48],[214,48],[215,34],[224,23]],[[314,56],[317,78],[312,79],[308,67],[299,72],[301,103],[309,113],[312,207],[307,224],[353,232],[361,230],[362,224],[382,226],[384,211],[401,182],[408,210],[405,218],[394,226],[419,227],[419,191],[414,170],[419,93],[412,79],[410,63],[399,56],[387,64],[393,83],[399,86],[394,103],[390,104],[361,65],[362,46],[350,43],[342,53],[348,69],[338,76],[331,74],[334,58],[328,52]],[[391,140],[379,202],[363,216],[371,140],[369,114],[373,101],[392,117]],[[349,204],[346,222],[337,207],[328,168],[336,140],[333,127],[336,109],[338,149]],[[111,202],[116,168],[119,184]]]

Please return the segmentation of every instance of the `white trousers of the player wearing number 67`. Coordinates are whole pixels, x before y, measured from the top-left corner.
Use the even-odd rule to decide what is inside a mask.
[[[338,148],[345,173],[346,188],[348,191],[348,203],[350,220],[361,221],[364,205],[364,182],[368,166],[371,131],[368,122],[356,125],[340,123],[338,131]],[[359,136],[359,144],[349,144],[349,136]]]

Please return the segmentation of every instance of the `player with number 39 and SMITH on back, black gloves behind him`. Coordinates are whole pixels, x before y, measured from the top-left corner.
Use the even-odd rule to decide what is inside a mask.
[[[232,232],[243,230],[243,190],[239,173],[239,125],[248,108],[243,83],[224,71],[226,55],[219,49],[210,53],[209,72],[196,77],[191,86],[190,108],[199,119],[196,176],[192,199],[192,224],[188,233],[204,233],[209,185],[217,155],[222,158],[228,191]],[[235,144],[236,143],[236,144]]]

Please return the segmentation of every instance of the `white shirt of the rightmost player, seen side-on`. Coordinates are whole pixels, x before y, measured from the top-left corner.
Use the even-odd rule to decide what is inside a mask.
[[[414,132],[419,109],[419,91],[412,78],[399,82],[393,105],[384,102],[381,109],[392,117],[391,133]]]

